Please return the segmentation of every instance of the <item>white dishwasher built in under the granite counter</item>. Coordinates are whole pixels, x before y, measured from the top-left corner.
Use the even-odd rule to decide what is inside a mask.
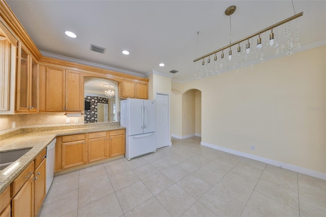
[[[56,139],[46,147],[46,193],[49,191],[55,174]]]

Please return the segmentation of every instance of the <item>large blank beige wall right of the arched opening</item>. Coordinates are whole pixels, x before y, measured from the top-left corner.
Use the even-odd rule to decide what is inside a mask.
[[[325,56],[321,46],[183,84],[202,91],[202,141],[326,173]]]

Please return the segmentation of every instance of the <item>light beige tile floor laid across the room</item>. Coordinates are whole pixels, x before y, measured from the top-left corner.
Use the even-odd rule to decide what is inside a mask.
[[[200,145],[57,176],[39,216],[326,216],[326,181]]]

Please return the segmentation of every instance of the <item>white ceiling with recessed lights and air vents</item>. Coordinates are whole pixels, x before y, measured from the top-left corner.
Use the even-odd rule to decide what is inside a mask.
[[[224,14],[229,6],[237,7],[231,16],[232,42],[294,15],[291,1],[6,2],[44,56],[52,53],[139,76],[155,70],[173,75],[176,82],[195,79],[193,60],[230,43],[230,19]],[[304,12],[292,21],[302,47],[325,40],[326,1],[293,4],[296,13]],[[77,38],[67,37],[66,30]],[[105,53],[91,51],[91,44],[106,48]]]

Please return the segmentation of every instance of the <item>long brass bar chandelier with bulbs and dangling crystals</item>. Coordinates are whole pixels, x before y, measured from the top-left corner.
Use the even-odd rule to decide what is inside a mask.
[[[291,16],[257,33],[251,34],[250,36],[244,37],[238,41],[231,43],[231,15],[235,12],[235,10],[235,6],[230,6],[225,10],[225,14],[230,17],[230,44],[194,60],[196,79],[201,79],[213,74],[220,75],[221,72],[229,69],[245,67],[247,71],[248,67],[253,68],[254,63],[258,61],[264,61],[265,49],[274,49],[275,55],[286,53],[286,55],[290,56],[293,54],[293,49],[299,48],[301,46],[298,39],[297,28],[295,28],[295,35],[292,37],[292,28],[290,21],[303,16],[303,12],[296,14],[294,6],[294,16]],[[281,29],[278,30],[276,28]],[[274,33],[276,34],[274,35]],[[278,33],[280,33],[281,36],[279,36]],[[197,37],[199,37],[199,32],[197,32],[197,35]],[[253,46],[254,38],[257,36],[257,44],[256,46]],[[264,40],[262,40],[262,38]],[[267,38],[269,40],[267,40]],[[232,47],[235,48],[234,51],[236,52],[232,53]],[[224,51],[228,52],[227,58],[224,58]],[[217,56],[219,52],[221,52],[221,58],[218,58]],[[210,56],[214,56],[214,61],[210,60]]]

